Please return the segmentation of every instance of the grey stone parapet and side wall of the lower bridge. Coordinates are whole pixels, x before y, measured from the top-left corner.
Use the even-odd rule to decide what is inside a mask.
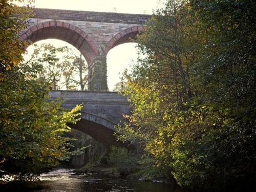
[[[130,107],[126,97],[117,92],[104,91],[52,91],[52,99],[63,98],[63,108],[72,109],[82,104],[82,111],[101,117],[115,124],[123,121],[123,114],[129,114]]]

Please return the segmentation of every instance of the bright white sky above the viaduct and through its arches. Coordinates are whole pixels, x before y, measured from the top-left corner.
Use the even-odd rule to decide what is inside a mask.
[[[161,1],[163,2],[163,0]],[[35,0],[36,8],[68,9],[81,11],[118,12],[118,13],[140,13],[152,14],[161,5],[159,0]],[[43,40],[40,42],[51,43],[56,47],[67,46],[60,40]],[[71,46],[71,45],[70,45]],[[136,44],[122,44],[107,55],[108,87],[112,91],[115,84],[120,81],[121,74],[125,68],[137,58]]]

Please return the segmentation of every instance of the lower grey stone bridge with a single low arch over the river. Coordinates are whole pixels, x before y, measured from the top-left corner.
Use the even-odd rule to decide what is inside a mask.
[[[114,137],[115,125],[124,121],[123,114],[129,114],[129,103],[117,92],[104,91],[52,91],[52,99],[61,97],[65,109],[82,104],[81,120],[71,124],[73,129],[86,133],[106,147],[123,145]]]

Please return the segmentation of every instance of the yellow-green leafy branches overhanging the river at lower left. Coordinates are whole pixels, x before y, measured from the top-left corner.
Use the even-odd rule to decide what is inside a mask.
[[[37,173],[71,156],[69,138],[62,134],[70,130],[67,122],[78,120],[81,107],[65,111],[60,102],[48,100],[49,84],[30,78],[34,73],[35,68],[23,67],[0,82],[0,154],[7,160],[2,168],[11,173]]]

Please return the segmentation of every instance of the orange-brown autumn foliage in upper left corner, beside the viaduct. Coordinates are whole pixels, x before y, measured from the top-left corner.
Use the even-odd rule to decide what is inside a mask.
[[[19,40],[18,32],[26,27],[25,20],[32,15],[32,11],[11,2],[0,1],[0,79],[5,71],[23,61],[22,53],[28,45],[26,41]]]

